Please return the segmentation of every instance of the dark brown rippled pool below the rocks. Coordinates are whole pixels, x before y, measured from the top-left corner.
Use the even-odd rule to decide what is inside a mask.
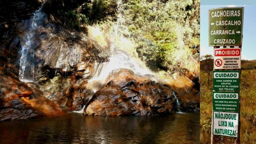
[[[63,116],[0,122],[0,143],[199,143],[199,114]]]

